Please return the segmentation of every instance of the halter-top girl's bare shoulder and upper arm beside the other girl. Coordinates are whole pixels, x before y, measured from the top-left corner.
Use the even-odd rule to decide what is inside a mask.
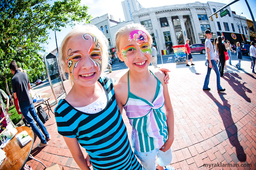
[[[120,110],[120,113],[123,113],[123,106],[125,105],[128,99],[128,81],[127,73],[125,73],[119,80],[114,83],[114,91],[116,97],[116,103]]]

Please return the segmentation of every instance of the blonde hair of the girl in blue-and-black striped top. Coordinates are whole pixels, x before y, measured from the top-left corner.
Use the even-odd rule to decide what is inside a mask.
[[[84,34],[95,35],[98,38],[98,41],[100,42],[100,50],[101,50],[101,58],[102,58],[100,75],[102,75],[105,69],[107,68],[108,56],[109,56],[109,53],[108,53],[109,45],[105,35],[102,33],[102,31],[99,30],[99,28],[97,28],[94,25],[91,25],[91,24],[77,25],[68,33],[68,35],[65,36],[60,46],[59,64],[60,64],[61,73],[64,77],[65,77],[65,72],[68,69],[68,66],[65,63],[66,58],[68,57],[67,49],[66,49],[67,44],[72,37],[75,37],[77,35],[84,35]],[[69,80],[71,81],[71,84],[72,84],[73,80],[71,78],[69,78]]]

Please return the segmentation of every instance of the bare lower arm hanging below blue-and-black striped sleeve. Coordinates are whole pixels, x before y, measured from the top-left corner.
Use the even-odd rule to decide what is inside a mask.
[[[71,152],[76,164],[81,168],[81,170],[90,170],[89,166],[92,166],[90,157],[87,154],[86,158],[84,158],[84,154],[80,149],[80,145],[76,138],[69,138],[63,136],[69,151]]]

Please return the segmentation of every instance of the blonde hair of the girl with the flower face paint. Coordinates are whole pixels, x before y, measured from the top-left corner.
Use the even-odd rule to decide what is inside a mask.
[[[119,45],[120,45],[120,41],[121,41],[121,37],[126,34],[127,32],[131,32],[134,30],[141,30],[143,32],[146,33],[146,35],[148,36],[148,43],[151,45],[153,42],[153,39],[151,37],[151,35],[148,33],[148,31],[146,30],[146,27],[144,25],[141,24],[128,24],[122,28],[120,28],[117,32],[116,32],[116,50],[119,51]]]

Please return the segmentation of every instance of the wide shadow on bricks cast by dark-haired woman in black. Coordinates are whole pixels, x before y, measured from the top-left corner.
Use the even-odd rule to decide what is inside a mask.
[[[246,100],[247,102],[251,103],[251,99],[247,97],[245,91],[247,91],[248,93],[252,93],[252,91],[244,86],[246,82],[241,83],[240,81],[237,80],[237,79],[242,80],[242,78],[237,73],[224,74],[222,78],[228,82],[228,84],[235,90],[235,92],[238,95],[243,97],[244,100]]]

